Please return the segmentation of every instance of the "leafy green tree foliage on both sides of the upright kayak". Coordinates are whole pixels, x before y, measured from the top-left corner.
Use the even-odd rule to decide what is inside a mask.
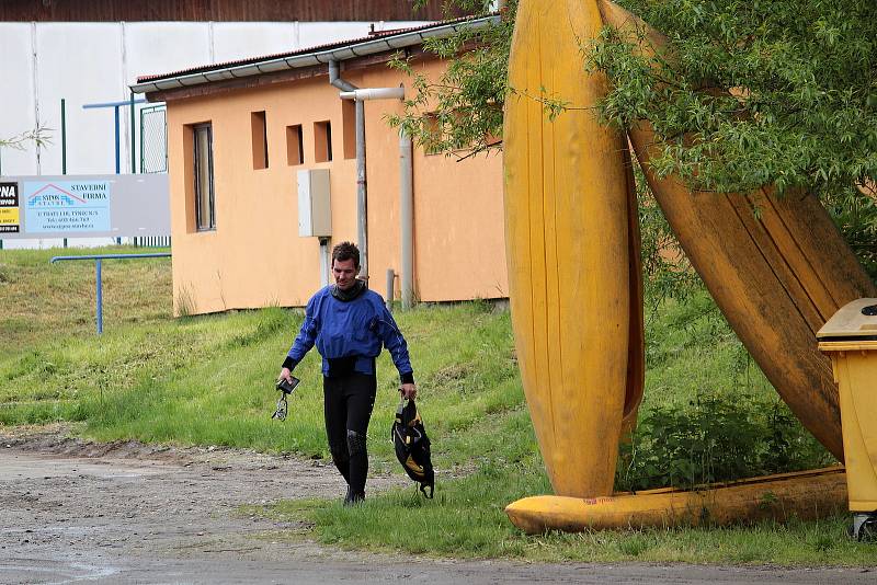
[[[873,0],[618,3],[669,44],[665,54],[643,56],[636,39],[604,27],[582,47],[583,67],[605,72],[613,83],[599,104],[602,119],[619,128],[649,119],[662,141],[653,168],[660,175],[679,174],[695,190],[730,193],[774,184],[781,193],[789,187],[817,193],[877,275]],[[502,104],[514,92],[505,73],[516,4],[506,2],[496,25],[429,42],[428,50],[449,61],[438,80],[417,76],[410,64],[397,60],[396,67],[414,74],[417,92],[405,114],[390,122],[431,151],[464,157],[460,151],[501,148],[494,137],[501,136]],[[491,2],[446,0],[446,5],[482,13]],[[545,105],[546,115],[562,108]],[[640,204],[647,268],[651,263],[659,288],[672,291],[680,273],[664,259],[675,242],[646,187]]]

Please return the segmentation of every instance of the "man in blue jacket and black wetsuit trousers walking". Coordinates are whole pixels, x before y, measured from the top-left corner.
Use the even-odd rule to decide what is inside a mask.
[[[399,370],[403,398],[414,398],[414,372],[408,344],[387,311],[384,299],[368,290],[360,272],[360,250],[351,242],[332,249],[335,284],[310,298],[305,321],[280,377],[292,381],[292,370],[314,345],[322,356],[323,408],[329,451],[348,482],[344,504],[365,498],[368,473],[366,432],[377,392],[375,358],[381,346]]]

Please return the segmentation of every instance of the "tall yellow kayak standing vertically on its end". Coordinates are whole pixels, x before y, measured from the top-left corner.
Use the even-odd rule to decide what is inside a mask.
[[[580,43],[596,0],[522,0],[503,137],[515,347],[555,493],[612,493],[619,435],[642,393],[638,231],[626,140],[590,107],[605,93]],[[556,119],[545,100],[567,105]],[[586,107],[588,110],[581,110]]]

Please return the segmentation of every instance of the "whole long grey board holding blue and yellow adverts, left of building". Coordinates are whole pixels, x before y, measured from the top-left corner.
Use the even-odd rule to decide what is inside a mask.
[[[170,236],[168,175],[0,177],[0,239]]]

